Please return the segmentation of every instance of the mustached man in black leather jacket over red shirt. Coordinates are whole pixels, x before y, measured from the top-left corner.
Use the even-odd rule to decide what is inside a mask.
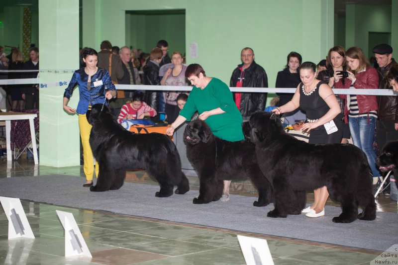
[[[240,53],[242,64],[232,72],[230,87],[238,88],[268,88],[267,73],[264,68],[254,61],[253,49],[246,47]],[[264,110],[267,93],[240,93],[233,94],[236,106],[244,120],[257,110]]]

